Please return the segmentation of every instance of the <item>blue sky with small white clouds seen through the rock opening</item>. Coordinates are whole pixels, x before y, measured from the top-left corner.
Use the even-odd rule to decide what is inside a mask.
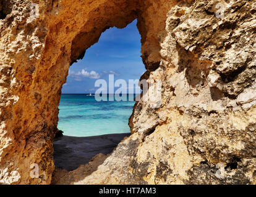
[[[140,57],[141,38],[136,24],[137,20],[134,20],[126,28],[114,27],[102,33],[99,41],[87,49],[85,57],[70,66],[62,94],[94,94],[99,89],[107,89],[113,94],[122,86],[115,87],[114,92],[109,87],[95,87],[98,79],[105,79],[109,84],[109,74],[114,77],[114,82],[124,79],[127,86],[129,79],[140,79],[146,70]],[[122,88],[129,92],[129,87]]]

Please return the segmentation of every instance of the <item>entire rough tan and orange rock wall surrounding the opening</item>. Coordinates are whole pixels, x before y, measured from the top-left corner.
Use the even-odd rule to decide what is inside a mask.
[[[142,79],[161,80],[160,107],[137,102],[132,135],[94,172],[56,170],[53,183],[256,184],[255,1],[0,2],[0,183],[51,183],[70,64],[137,18]]]

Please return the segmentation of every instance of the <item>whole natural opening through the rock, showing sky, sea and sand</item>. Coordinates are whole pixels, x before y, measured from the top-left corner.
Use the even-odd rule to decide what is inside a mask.
[[[59,132],[54,139],[56,167],[77,169],[99,153],[111,153],[130,135],[129,117],[140,87],[135,82],[131,90],[129,79],[139,81],[145,73],[136,23],[134,20],[124,29],[106,30],[98,43],[87,49],[83,59],[70,66],[59,104]],[[97,81],[105,81],[107,86],[95,86]],[[121,92],[117,93],[117,89]],[[95,93],[99,92],[96,98]],[[122,100],[113,93],[122,93]],[[97,101],[98,97],[107,100]]]

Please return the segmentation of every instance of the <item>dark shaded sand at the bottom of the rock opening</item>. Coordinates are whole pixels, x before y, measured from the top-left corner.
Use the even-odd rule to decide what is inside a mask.
[[[108,155],[130,133],[106,134],[90,137],[63,135],[54,139],[54,164],[60,169],[74,171],[80,165],[89,163],[96,155]]]

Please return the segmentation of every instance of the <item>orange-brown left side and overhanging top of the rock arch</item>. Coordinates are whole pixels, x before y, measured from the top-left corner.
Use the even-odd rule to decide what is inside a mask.
[[[58,123],[61,87],[69,66],[82,58],[107,28],[124,28],[135,18],[144,48],[150,45],[150,51],[144,49],[144,57],[155,49],[159,54],[158,30],[153,28],[164,29],[166,14],[157,10],[163,2],[150,1],[10,3],[11,14],[0,21],[1,182],[12,183],[13,179],[13,183],[50,183],[54,169],[52,140]],[[171,1],[166,6],[173,4]],[[36,12],[38,16],[32,15]],[[148,17],[150,12],[163,18],[160,24]],[[30,177],[30,165],[34,163],[39,166],[39,179]],[[10,177],[7,172],[15,175]]]

